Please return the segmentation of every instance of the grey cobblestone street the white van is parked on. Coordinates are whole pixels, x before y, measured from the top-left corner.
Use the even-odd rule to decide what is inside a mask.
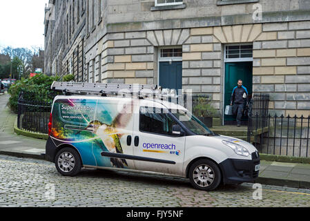
[[[63,177],[43,160],[0,155],[0,206],[310,206],[309,189],[253,184],[192,189],[188,180],[162,175],[84,170]]]

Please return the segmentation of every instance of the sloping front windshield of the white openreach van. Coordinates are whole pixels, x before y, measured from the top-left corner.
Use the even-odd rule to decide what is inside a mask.
[[[191,130],[196,135],[215,135],[209,128],[207,128],[197,117],[188,113],[185,110],[171,110],[171,113],[182,122],[186,128]]]

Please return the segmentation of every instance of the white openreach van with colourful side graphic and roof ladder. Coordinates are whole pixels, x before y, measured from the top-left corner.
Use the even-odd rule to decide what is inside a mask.
[[[161,95],[155,86],[54,82],[52,89],[64,95],[52,104],[46,159],[62,175],[82,168],[157,172],[204,191],[258,177],[252,144],[213,133],[181,105],[145,96]]]

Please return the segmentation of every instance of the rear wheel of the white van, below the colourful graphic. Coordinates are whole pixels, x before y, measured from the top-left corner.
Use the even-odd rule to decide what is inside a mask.
[[[73,148],[61,149],[55,157],[56,169],[61,175],[75,176],[81,171],[81,158]]]

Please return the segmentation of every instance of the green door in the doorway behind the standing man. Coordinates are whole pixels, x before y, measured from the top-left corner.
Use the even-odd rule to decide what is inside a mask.
[[[233,88],[237,86],[238,79],[242,79],[243,86],[249,92],[249,97],[252,95],[253,83],[253,62],[227,62],[225,63],[225,88],[224,88],[224,110],[231,103],[231,94]],[[244,121],[247,120],[243,117]],[[224,124],[235,124],[235,118],[231,115],[224,115]]]

